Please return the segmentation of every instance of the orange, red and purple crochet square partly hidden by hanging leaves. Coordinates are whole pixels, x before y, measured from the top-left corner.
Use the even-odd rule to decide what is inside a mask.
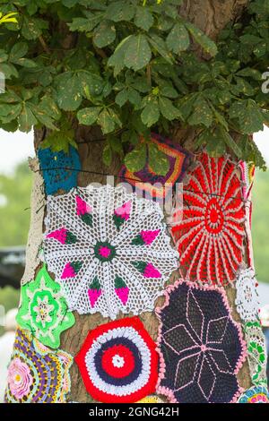
[[[129,171],[123,166],[119,172],[122,181],[133,185],[135,192],[141,197],[163,199],[171,194],[172,187],[180,182],[185,175],[189,163],[190,154],[179,145],[172,143],[169,139],[162,138],[159,134],[152,133],[152,144],[160,150],[169,161],[169,169],[165,176],[157,175],[149,165],[149,151],[147,151],[146,162],[140,171]]]

